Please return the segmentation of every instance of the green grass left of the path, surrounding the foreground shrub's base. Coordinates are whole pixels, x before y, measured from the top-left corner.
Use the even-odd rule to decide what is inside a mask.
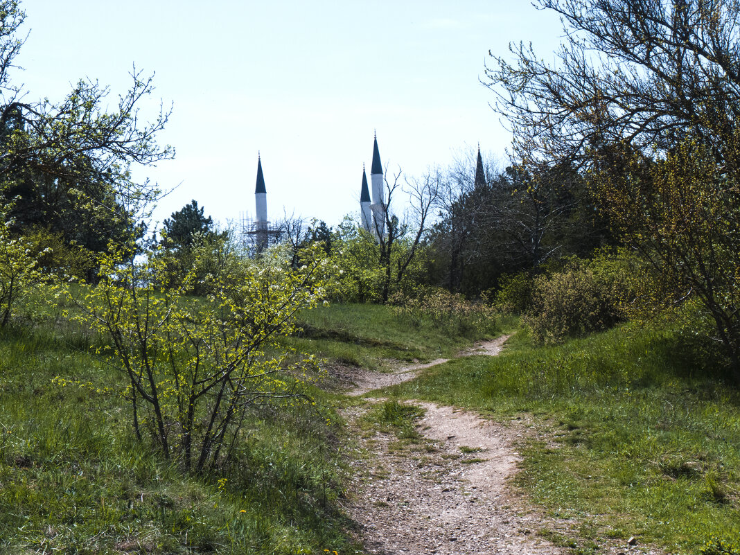
[[[119,397],[53,380],[123,376],[81,350],[80,329],[38,314],[0,331],[0,553],[351,549],[344,431],[322,391],[317,406],[255,407],[232,464],[188,475],[134,439]]]

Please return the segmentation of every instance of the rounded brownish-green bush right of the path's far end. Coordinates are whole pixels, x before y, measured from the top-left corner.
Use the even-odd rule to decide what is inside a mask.
[[[538,343],[608,329],[624,319],[633,298],[634,260],[601,252],[593,260],[571,258],[559,272],[532,280],[531,303],[522,320]]]

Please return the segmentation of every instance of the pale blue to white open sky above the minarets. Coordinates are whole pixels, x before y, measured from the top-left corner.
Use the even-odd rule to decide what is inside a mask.
[[[355,212],[377,129],[383,164],[406,175],[510,137],[480,84],[488,50],[533,41],[551,57],[559,21],[528,0],[25,0],[30,36],[14,81],[58,99],[79,78],[110,84],[136,64],[174,103],[173,161],[138,170],[164,188],[162,220],[192,198],[220,221],[254,212],[258,150],[271,219],[334,225]],[[145,107],[147,110],[152,105]],[[146,112],[147,110],[144,110]]]

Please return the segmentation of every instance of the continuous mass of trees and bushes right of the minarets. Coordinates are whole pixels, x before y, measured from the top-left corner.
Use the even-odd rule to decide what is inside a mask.
[[[457,178],[456,169],[434,170],[407,182],[409,219],[394,213],[397,178],[389,182],[391,245],[366,241],[383,273],[356,278],[357,298],[386,301],[420,283],[471,298],[512,297],[517,285],[526,312],[544,310],[536,300],[550,287],[559,312],[591,314],[573,299],[612,288],[593,282],[588,292],[565,295],[564,283],[605,273],[569,257],[602,249],[608,259],[616,255],[605,247],[622,247],[631,279],[611,283],[629,286],[591,304],[619,306],[619,318],[689,321],[740,381],[740,5],[539,5],[564,27],[554,63],[522,42],[512,46],[513,59],[494,56],[486,70],[495,110],[514,130],[514,163],[484,178],[468,164]],[[430,207],[440,215],[434,225]],[[556,275],[560,286],[542,275]],[[588,314],[568,327],[591,329],[582,323]]]

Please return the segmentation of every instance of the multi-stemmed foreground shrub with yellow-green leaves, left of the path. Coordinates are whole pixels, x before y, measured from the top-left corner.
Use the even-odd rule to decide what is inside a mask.
[[[72,316],[110,337],[110,351],[97,354],[127,377],[118,394],[137,437],[148,431],[165,458],[202,471],[229,456],[253,403],[306,397],[312,357],[292,363],[266,353],[295,330],[299,310],[323,298],[323,260],[309,254],[293,269],[279,251],[258,261],[226,251],[206,276],[206,297],[190,294],[198,260],[172,283],[158,252],[100,256],[98,284],[68,292],[80,309]]]

